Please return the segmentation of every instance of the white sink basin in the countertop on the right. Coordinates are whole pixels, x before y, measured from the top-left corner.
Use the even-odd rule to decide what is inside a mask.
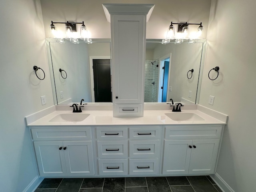
[[[165,113],[170,119],[174,121],[204,121],[202,117],[194,113]]]

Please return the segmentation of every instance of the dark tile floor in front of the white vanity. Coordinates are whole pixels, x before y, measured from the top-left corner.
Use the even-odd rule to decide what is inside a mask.
[[[54,178],[35,192],[222,192],[209,176]]]

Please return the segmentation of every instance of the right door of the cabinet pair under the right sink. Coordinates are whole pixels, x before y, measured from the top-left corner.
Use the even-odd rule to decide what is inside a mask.
[[[220,140],[193,140],[190,174],[214,174]]]

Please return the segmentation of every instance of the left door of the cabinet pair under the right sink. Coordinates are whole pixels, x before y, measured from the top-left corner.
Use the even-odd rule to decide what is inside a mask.
[[[192,140],[165,140],[163,174],[188,174]]]

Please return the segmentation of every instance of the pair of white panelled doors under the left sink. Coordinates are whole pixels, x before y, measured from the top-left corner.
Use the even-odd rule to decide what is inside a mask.
[[[94,175],[91,141],[35,141],[40,176]]]

